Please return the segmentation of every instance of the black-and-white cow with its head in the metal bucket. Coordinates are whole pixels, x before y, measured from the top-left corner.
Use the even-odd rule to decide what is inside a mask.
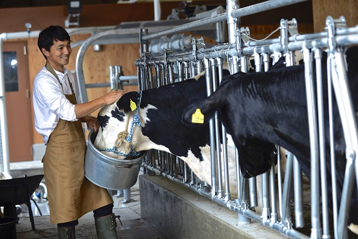
[[[141,126],[133,129],[131,147],[139,152],[149,149],[163,150],[184,160],[193,172],[203,181],[211,184],[211,162],[208,124],[194,126],[182,122],[185,108],[206,98],[205,77],[188,79],[160,88],[142,92],[141,102],[138,92],[123,95],[115,104],[104,106],[98,114],[100,129],[94,146],[108,149],[115,145],[118,134],[125,130],[129,134],[135,111],[130,109],[130,101],[140,103]],[[117,147],[124,152],[126,143]],[[114,152],[103,151],[113,158],[124,159]],[[231,180],[231,193],[236,195],[235,145],[228,135],[228,158]],[[223,168],[223,166],[222,166]]]

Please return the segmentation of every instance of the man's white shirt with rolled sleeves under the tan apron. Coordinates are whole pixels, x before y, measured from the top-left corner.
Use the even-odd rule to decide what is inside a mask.
[[[74,92],[75,82],[69,70],[63,67],[63,73],[55,70],[61,84],[45,67],[36,75],[32,98],[35,115],[35,129],[42,135],[47,145],[49,137],[56,127],[59,118],[76,121],[75,105],[65,95],[71,95],[69,80]],[[69,79],[69,80],[68,80]]]

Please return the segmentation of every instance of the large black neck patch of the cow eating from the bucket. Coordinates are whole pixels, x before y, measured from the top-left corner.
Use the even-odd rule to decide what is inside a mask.
[[[223,71],[223,75],[228,74],[229,71]],[[138,98],[138,94],[133,94],[131,97]],[[182,115],[188,105],[205,98],[205,76],[198,80],[188,79],[143,91],[141,108],[149,104],[155,107],[147,112],[149,120],[142,128],[143,135],[156,144],[166,146],[176,156],[188,157],[188,151],[191,150],[196,158],[203,161],[200,147],[210,145],[209,125],[185,124]],[[122,107],[122,104],[126,103],[119,104]]]

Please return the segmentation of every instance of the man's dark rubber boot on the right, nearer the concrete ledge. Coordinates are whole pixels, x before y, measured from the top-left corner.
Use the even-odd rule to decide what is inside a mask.
[[[95,218],[96,232],[98,239],[117,239],[117,223],[114,213],[106,216],[101,216],[100,218]],[[119,220],[121,221],[121,220]],[[122,224],[122,222],[121,222]]]

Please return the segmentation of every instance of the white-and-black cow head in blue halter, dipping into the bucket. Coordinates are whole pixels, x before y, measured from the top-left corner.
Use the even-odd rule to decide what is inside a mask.
[[[97,117],[100,128],[94,146],[102,153],[118,159],[139,153],[136,151],[138,134],[141,134],[138,125],[145,123],[145,117],[140,117],[137,109],[139,97],[138,92],[129,92],[114,104],[101,108]]]

